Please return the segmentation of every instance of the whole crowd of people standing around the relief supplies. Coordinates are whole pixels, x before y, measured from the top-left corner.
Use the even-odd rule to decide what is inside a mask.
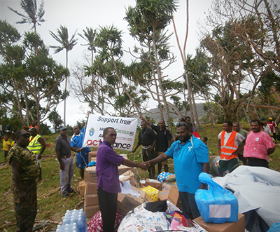
[[[168,172],[167,160],[173,159],[176,183],[179,189],[181,210],[191,219],[200,216],[195,203],[195,191],[206,189],[198,176],[201,172],[209,173],[209,150],[207,137],[200,137],[190,118],[179,118],[176,125],[176,139],[172,143],[172,133],[166,128],[165,121],[160,120],[153,125],[143,116],[141,131],[139,132],[135,152],[141,146],[142,163],[125,160],[113,151],[116,142],[116,130],[105,128],[103,142],[97,150],[97,186],[99,207],[104,221],[104,231],[113,231],[117,210],[117,197],[120,192],[118,180],[118,166],[123,164],[129,167],[138,167],[148,170],[149,178],[155,179],[155,165],[158,164],[158,175]],[[12,131],[9,123],[8,132]],[[276,130],[279,131],[272,118],[267,123],[254,119],[250,123],[251,131],[241,129],[239,123],[225,121],[223,131],[218,134],[218,176],[225,172],[232,172],[241,161],[244,165],[261,166],[269,168],[269,155],[274,152]],[[2,127],[1,133],[2,131]],[[73,155],[76,152],[76,166],[81,179],[84,178],[85,168],[88,164],[89,148],[83,148],[85,127],[81,130],[73,126],[71,139],[67,135],[65,126],[59,127],[59,135],[55,139],[55,152],[59,165],[60,188],[63,197],[73,192],[71,179],[73,177]],[[280,131],[279,131],[280,132]],[[39,134],[36,121],[30,127],[22,127],[18,132],[1,135],[5,161],[12,168],[12,184],[15,214],[19,231],[31,231],[37,212],[36,182],[41,181],[41,158],[45,151],[45,140]],[[188,177],[188,179],[186,179]]]

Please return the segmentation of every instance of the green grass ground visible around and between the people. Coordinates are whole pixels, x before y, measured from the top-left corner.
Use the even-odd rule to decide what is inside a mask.
[[[242,128],[248,129],[247,123],[242,123]],[[201,137],[208,137],[208,147],[210,159],[218,156],[217,141],[218,133],[221,132],[222,125],[215,125],[211,128],[210,125],[202,125],[200,130]],[[138,134],[138,133],[137,133]],[[54,142],[57,135],[43,136],[47,143],[47,148],[43,153],[43,159],[41,161],[42,177],[43,181],[38,183],[37,195],[38,195],[38,214],[36,221],[43,219],[52,221],[50,226],[44,228],[41,231],[55,231],[57,223],[62,221],[66,210],[73,210],[74,208],[83,208],[83,198],[77,193],[73,193],[69,198],[62,198],[59,188],[59,169],[58,163],[55,160]],[[136,135],[137,138],[137,135]],[[137,143],[135,141],[134,146]],[[279,142],[278,142],[279,143]],[[92,149],[92,151],[97,149]],[[125,153],[131,161],[141,162],[141,148],[137,149],[134,153],[130,151],[116,150],[118,153]],[[10,191],[10,166],[4,162],[2,144],[0,145],[0,231],[16,231],[15,226],[15,214],[13,210],[13,196]],[[280,168],[280,146],[276,146],[276,151],[269,156],[269,167],[272,170],[279,171]],[[155,174],[158,174],[158,167],[156,167]],[[174,173],[174,166],[172,159],[169,159],[169,172]],[[213,170],[211,174],[215,175]],[[137,169],[137,180],[146,179],[148,173]],[[74,177],[72,181],[73,188],[77,188],[78,182],[80,182],[80,175],[78,169],[74,170]]]

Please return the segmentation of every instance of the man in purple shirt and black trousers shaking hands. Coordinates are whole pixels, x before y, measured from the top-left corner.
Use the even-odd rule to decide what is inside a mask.
[[[113,151],[112,145],[117,137],[114,128],[105,128],[103,131],[103,142],[97,150],[97,188],[99,208],[102,213],[103,231],[113,232],[117,212],[118,193],[120,192],[120,181],[118,166],[121,164],[128,167],[146,169],[146,164],[135,163],[125,160],[123,156]]]

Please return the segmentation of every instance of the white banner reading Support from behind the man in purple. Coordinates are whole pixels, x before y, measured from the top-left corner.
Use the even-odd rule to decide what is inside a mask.
[[[114,149],[132,151],[137,130],[137,118],[122,118],[90,114],[83,140],[83,147],[97,147],[103,141],[103,130],[112,127],[117,132]]]

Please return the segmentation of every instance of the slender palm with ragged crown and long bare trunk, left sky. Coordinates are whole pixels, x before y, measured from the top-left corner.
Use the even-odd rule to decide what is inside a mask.
[[[76,32],[73,34],[73,36],[71,36],[71,39],[69,40],[67,27],[60,25],[60,27],[57,28],[57,35],[50,31],[50,35],[57,42],[60,43],[60,46],[50,46],[50,48],[55,48],[55,53],[59,53],[63,49],[66,50],[66,69],[68,69],[68,52],[69,50],[72,50],[73,47],[77,44],[78,39],[74,39],[74,37],[76,36]],[[65,79],[65,92],[66,90],[67,90],[67,76]],[[66,125],[66,97],[64,99],[64,125]]]

